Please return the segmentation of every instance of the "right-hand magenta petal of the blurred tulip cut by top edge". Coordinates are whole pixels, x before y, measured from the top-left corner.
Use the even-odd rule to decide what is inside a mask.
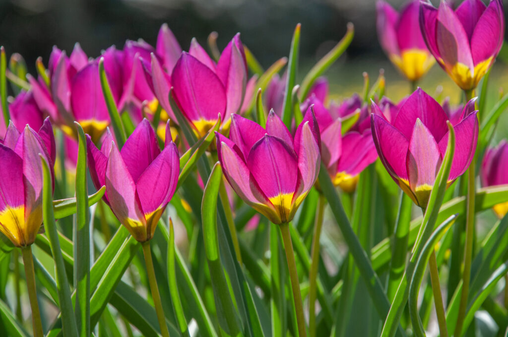
[[[401,11],[396,28],[397,41],[401,51],[414,48],[427,49],[420,30],[419,17],[419,0],[412,0]]]

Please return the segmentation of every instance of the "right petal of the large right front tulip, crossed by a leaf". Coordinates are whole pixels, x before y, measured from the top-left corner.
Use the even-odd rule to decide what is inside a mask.
[[[477,112],[469,114],[462,122],[455,125],[455,153],[448,181],[453,181],[466,172],[476,151],[478,142]],[[448,145],[448,133],[439,142],[439,150],[444,156]]]

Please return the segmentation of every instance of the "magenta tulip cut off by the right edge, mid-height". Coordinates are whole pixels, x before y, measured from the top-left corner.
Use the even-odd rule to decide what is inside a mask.
[[[482,162],[480,178],[483,186],[495,186],[508,184],[508,143],[502,140],[495,148],[489,148],[485,152]],[[493,207],[499,218],[508,212],[508,203],[497,204]]]

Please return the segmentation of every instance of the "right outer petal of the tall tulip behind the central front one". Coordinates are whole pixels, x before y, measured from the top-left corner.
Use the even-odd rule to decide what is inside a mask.
[[[217,76],[226,88],[227,109],[224,120],[227,120],[230,114],[240,111],[247,84],[247,68],[244,56],[239,50],[243,49],[243,46],[241,42],[237,46],[236,42],[235,39],[231,40],[217,63]]]

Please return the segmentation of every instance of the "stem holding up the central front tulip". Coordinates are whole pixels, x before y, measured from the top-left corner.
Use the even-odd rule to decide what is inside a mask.
[[[296,321],[298,324],[298,335],[305,337],[305,318],[303,316],[302,293],[300,291],[300,281],[298,281],[298,273],[296,271],[295,252],[293,243],[291,242],[291,233],[289,230],[289,222],[279,225],[284,241],[284,252],[288,261],[289,275],[291,278],[291,288],[293,290],[293,298],[295,300]]]

